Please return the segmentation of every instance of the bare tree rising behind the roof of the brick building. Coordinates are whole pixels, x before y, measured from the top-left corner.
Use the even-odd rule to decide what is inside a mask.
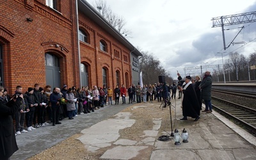
[[[95,4],[93,4],[93,7],[97,8],[102,17],[104,17],[119,33],[127,38],[131,38],[132,32],[129,31],[129,29],[124,28],[126,24],[125,19],[116,15],[116,13],[113,13],[111,8],[107,6],[106,1],[97,0],[95,1]]]

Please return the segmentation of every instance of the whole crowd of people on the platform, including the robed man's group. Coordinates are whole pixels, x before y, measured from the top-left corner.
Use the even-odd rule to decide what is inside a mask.
[[[205,102],[205,110],[203,112],[211,113],[211,74],[205,72],[204,79],[201,81],[199,76],[195,80],[190,76],[186,76],[182,80],[178,73],[179,82],[172,85],[164,83],[145,84],[135,86],[131,84],[129,88],[125,88],[122,84],[121,88],[116,85],[112,90],[93,86],[82,86],[76,88],[72,86],[68,88],[66,84],[63,88],[53,88],[47,85],[44,88],[40,84],[35,84],[33,88],[29,87],[23,93],[22,86],[17,86],[15,93],[10,96],[7,90],[0,86],[0,156],[3,159],[9,159],[12,154],[18,150],[15,136],[28,131],[33,131],[44,125],[61,124],[63,118],[73,120],[74,117],[86,113],[94,112],[95,109],[104,108],[104,106],[119,104],[122,97],[122,104],[125,104],[125,97],[129,96],[129,104],[132,102],[162,102],[166,107],[168,100],[176,98],[177,89],[179,90],[179,98],[182,99],[182,115],[180,120],[188,120],[187,116],[199,120],[200,110],[202,110],[202,100]],[[113,97],[113,98],[112,98]],[[15,125],[13,125],[13,119]],[[48,121],[47,121],[48,120]],[[24,127],[26,122],[27,130]],[[8,127],[6,127],[8,126]],[[15,134],[14,134],[15,133]],[[8,135],[7,135],[8,134]]]

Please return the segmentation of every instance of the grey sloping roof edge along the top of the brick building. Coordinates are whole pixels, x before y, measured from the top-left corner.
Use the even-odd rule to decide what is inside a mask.
[[[91,4],[85,0],[78,0],[77,7],[80,12],[90,17],[96,24],[104,28],[110,35],[112,35],[120,43],[124,44],[136,56],[142,56],[141,52],[136,49],[120,32],[118,32],[102,15],[100,15]]]

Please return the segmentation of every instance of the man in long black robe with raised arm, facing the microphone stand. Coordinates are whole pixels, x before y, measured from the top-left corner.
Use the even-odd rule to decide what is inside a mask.
[[[178,79],[181,80],[180,75]],[[179,87],[179,90],[183,92],[184,97],[182,100],[182,115],[183,118],[180,120],[188,120],[187,116],[195,118],[194,121],[198,121],[200,118],[200,106],[195,93],[195,88],[191,83],[191,77],[186,76],[185,83],[182,87]]]

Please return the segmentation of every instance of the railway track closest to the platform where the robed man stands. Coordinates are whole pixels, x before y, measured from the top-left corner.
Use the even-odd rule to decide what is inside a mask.
[[[248,108],[227,100],[212,97],[212,108],[256,136],[256,109]]]

